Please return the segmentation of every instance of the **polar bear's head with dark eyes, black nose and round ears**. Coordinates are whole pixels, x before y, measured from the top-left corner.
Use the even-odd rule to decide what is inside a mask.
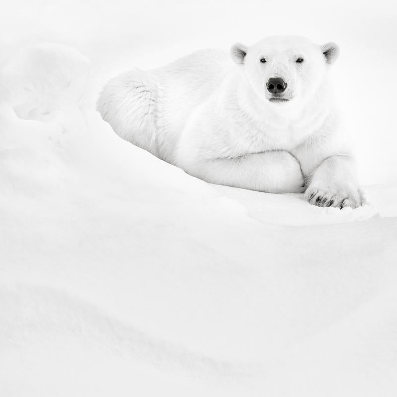
[[[324,86],[339,47],[300,36],[271,36],[252,46],[236,43],[230,53],[258,97],[288,107],[306,103]]]

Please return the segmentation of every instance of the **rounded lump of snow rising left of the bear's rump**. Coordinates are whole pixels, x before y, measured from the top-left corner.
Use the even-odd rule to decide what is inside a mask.
[[[25,48],[0,67],[0,98],[21,119],[46,120],[65,107],[78,106],[89,65],[89,59],[70,46]]]

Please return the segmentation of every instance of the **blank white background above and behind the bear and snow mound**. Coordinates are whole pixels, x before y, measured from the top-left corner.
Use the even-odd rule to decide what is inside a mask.
[[[364,185],[397,180],[393,1],[36,0],[3,3],[0,59],[37,42],[77,47],[92,61],[92,101],[114,74],[162,66],[200,48],[228,50],[273,34],[335,41],[335,85]]]

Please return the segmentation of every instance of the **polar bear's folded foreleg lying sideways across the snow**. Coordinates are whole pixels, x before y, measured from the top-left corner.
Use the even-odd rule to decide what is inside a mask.
[[[238,158],[181,164],[204,181],[269,193],[301,193],[304,178],[296,158],[286,151],[267,151]]]

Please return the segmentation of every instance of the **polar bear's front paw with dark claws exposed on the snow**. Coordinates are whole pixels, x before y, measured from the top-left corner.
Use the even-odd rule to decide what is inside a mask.
[[[306,189],[305,197],[312,205],[318,207],[336,208],[357,208],[361,205],[361,195],[355,189],[323,189],[316,186],[309,186]]]

